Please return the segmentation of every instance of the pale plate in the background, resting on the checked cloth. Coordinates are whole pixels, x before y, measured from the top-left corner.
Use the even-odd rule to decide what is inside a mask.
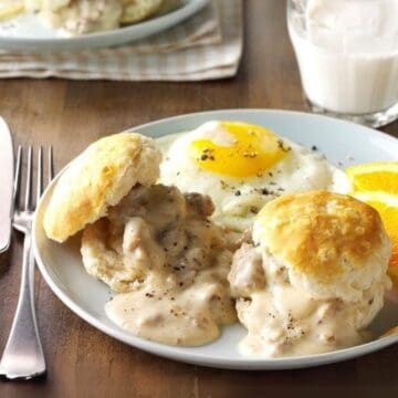
[[[44,27],[38,17],[24,13],[0,21],[0,49],[12,51],[63,51],[111,46],[127,43],[171,28],[202,9],[209,0],[184,0],[181,7],[165,15],[151,18],[106,32],[65,38]]]

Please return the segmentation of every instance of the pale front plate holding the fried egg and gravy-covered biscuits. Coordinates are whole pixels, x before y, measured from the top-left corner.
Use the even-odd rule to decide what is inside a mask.
[[[217,111],[170,117],[133,128],[151,137],[192,129],[211,119],[234,119],[270,127],[277,134],[307,147],[316,145],[327,158],[344,167],[362,161],[397,160],[398,139],[356,124],[324,116],[284,111]],[[115,324],[105,315],[104,304],[111,292],[105,284],[90,276],[80,255],[80,237],[57,244],[45,238],[42,217],[51,196],[52,186],[44,192],[34,223],[34,249],[40,271],[53,292],[78,316],[100,331],[134,347],[164,357],[234,369],[287,369],[335,363],[357,357],[392,343],[398,335],[328,354],[282,358],[251,359],[241,356],[237,344],[244,336],[240,325],[228,326],[222,336],[201,347],[174,347],[136,337]],[[391,296],[371,325],[375,336],[398,324],[398,301]]]

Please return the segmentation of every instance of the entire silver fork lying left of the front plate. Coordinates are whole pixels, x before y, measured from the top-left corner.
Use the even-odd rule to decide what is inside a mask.
[[[45,360],[40,342],[34,311],[34,255],[32,249],[32,221],[35,206],[32,201],[33,149],[28,149],[28,172],[24,206],[19,207],[22,168],[22,147],[18,147],[14,177],[14,213],[12,226],[24,234],[20,294],[11,332],[1,360],[0,376],[9,379],[32,377],[45,373]],[[49,182],[53,178],[53,151],[49,149]],[[36,203],[43,190],[43,149],[38,154]]]

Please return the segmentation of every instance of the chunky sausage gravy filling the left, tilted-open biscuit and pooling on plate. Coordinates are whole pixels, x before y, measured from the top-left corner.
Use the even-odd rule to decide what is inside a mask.
[[[137,268],[113,275],[114,282],[119,277],[113,289],[123,292],[105,306],[113,322],[137,336],[181,346],[209,343],[221,325],[237,322],[227,281],[232,252],[226,249],[223,229],[207,219],[212,210],[209,198],[182,196],[164,186],[135,189],[111,209],[107,240],[112,231],[123,233],[116,240],[122,247],[113,250],[122,253],[125,268]],[[83,262],[101,277],[106,275],[104,263],[100,273],[88,258],[90,249],[98,247],[92,228],[104,224],[85,231]],[[134,280],[125,281],[124,275]]]

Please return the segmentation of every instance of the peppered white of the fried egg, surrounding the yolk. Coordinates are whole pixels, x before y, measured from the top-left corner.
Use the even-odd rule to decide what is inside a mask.
[[[322,154],[283,138],[291,150],[258,176],[230,177],[201,169],[189,158],[190,143],[211,138],[228,145],[228,137],[218,122],[208,122],[189,133],[172,134],[158,139],[164,154],[160,182],[175,185],[184,192],[209,195],[216,205],[213,220],[235,231],[250,228],[254,216],[275,197],[296,191],[326,189],[339,193],[349,191],[345,174],[327,163]]]

